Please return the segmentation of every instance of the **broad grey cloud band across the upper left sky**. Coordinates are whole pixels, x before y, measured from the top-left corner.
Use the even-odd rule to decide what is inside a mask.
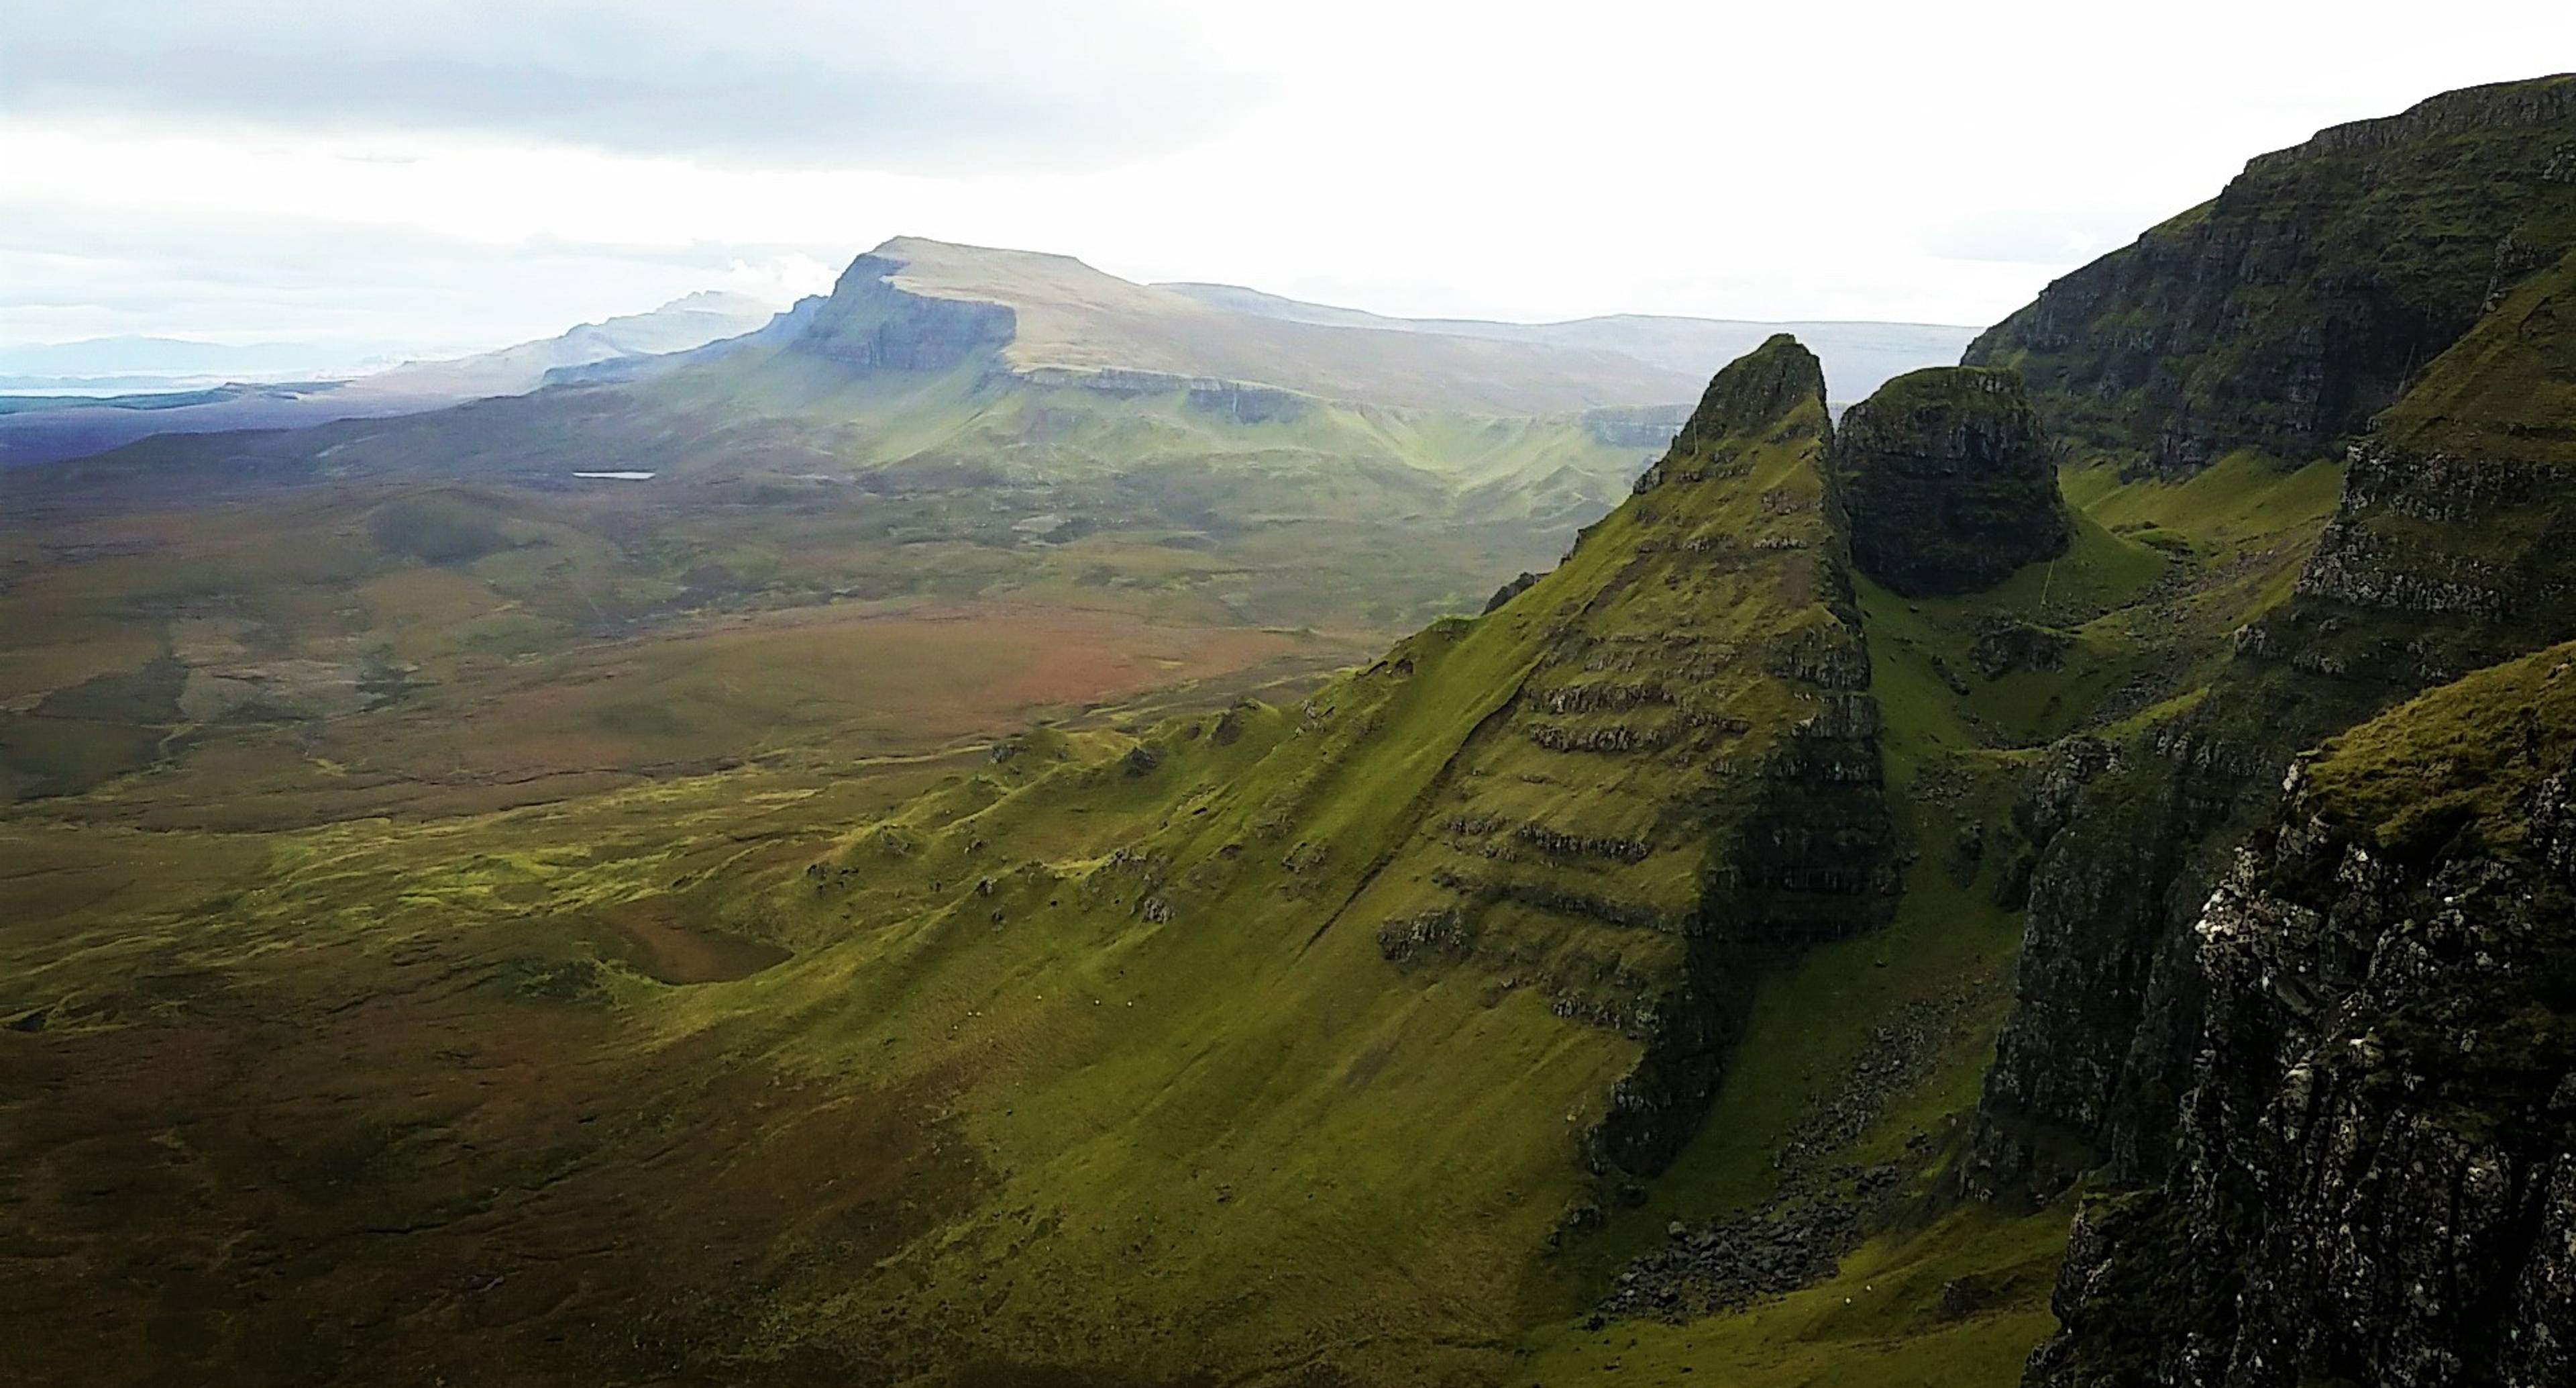
[[[21,0],[15,116],[482,131],[634,155],[878,170],[1082,165],[1249,95],[1188,23],[1118,5],[775,0]]]

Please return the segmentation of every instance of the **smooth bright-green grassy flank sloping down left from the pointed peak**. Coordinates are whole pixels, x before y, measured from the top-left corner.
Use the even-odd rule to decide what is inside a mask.
[[[1765,489],[1821,484],[1814,440],[1772,453],[1703,484],[1700,523],[1754,525]],[[1159,729],[1159,765],[1131,775],[1041,739],[791,881],[770,909],[842,937],[696,1007],[775,1027],[822,1071],[969,1071],[953,1105],[1005,1156],[974,1218],[899,1277],[806,1293],[788,1339],[858,1316],[920,1326],[925,1357],[1182,1355],[1229,1375],[1499,1355],[1522,1267],[1579,1195],[1574,1141],[1636,1046],[1556,1017],[1540,976],[1409,979],[1376,922],[1445,896],[1450,780],[1546,765],[1633,798],[1643,770],[1479,734],[1566,623],[1618,631],[1628,595],[1674,600],[1662,551],[1636,556],[1654,525],[1631,507],[1504,613],[1435,626],[1296,713],[1236,711],[1231,744],[1206,718]],[[1765,610],[1741,608],[1741,636]],[[1687,886],[1667,876],[1623,873]],[[1672,966],[1651,932],[1584,930]]]

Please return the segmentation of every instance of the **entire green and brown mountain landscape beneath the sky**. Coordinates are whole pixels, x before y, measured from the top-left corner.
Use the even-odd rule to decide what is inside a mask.
[[[1839,420],[1785,335],[1664,438],[889,242],[634,381],[31,469],[21,1375],[2568,1380],[2576,258],[2494,268],[2563,88]],[[2439,299],[2388,206],[2478,309],[2275,371]]]

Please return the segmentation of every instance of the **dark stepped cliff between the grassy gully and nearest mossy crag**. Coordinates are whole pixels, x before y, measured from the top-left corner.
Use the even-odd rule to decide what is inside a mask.
[[[2470,670],[2576,636],[2576,471],[2354,451],[2298,590],[2239,631],[2210,695],[2133,744],[2032,773],[2017,1007],[1963,1185],[2035,1200],[2110,1161],[2159,1179],[2200,1025],[2200,904],[2321,739]]]

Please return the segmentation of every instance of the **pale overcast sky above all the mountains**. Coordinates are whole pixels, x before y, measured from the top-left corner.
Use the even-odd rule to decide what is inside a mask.
[[[0,340],[466,350],[891,234],[1396,314],[1984,324],[2566,0],[8,0]]]

